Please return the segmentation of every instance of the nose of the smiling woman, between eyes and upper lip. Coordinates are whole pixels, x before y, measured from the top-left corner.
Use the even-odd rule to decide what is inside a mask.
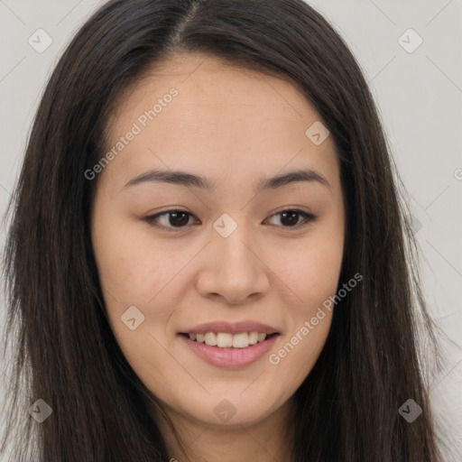
[[[269,269],[255,236],[246,233],[244,226],[237,226],[227,237],[215,230],[212,233],[196,279],[199,294],[230,305],[244,305],[247,299],[262,297],[270,288]]]

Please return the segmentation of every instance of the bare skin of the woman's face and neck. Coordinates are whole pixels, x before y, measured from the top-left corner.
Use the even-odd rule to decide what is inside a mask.
[[[107,125],[107,149],[172,87],[178,96],[96,178],[92,241],[111,328],[183,439],[185,453],[147,400],[171,457],[288,460],[292,396],[319,357],[332,312],[324,310],[279,364],[269,356],[337,290],[345,206],[334,143],[328,137],[316,145],[305,135],[321,118],[291,82],[179,54],[125,93]],[[205,176],[217,187],[143,182],[124,188],[154,168]],[[330,187],[299,181],[255,195],[261,177],[298,168],[319,172]],[[143,220],[166,209],[191,216],[183,227],[174,227],[169,215],[158,218],[172,232]],[[275,215],[284,209],[317,219],[295,228]],[[224,213],[237,225],[226,238],[212,227]],[[305,223],[302,216],[294,220]],[[121,320],[130,306],[144,316],[134,330]],[[223,319],[263,322],[280,336],[253,364],[226,370],[205,363],[177,335]],[[227,421],[214,412],[224,399],[236,410]]]

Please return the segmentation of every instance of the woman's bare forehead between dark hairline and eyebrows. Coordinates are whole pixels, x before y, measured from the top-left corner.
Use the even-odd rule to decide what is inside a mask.
[[[333,141],[317,145],[307,136],[319,123],[286,79],[203,54],[175,55],[125,91],[108,121],[106,149],[134,125],[140,133],[103,173],[117,169],[122,181],[163,167],[244,179],[272,176],[290,163],[328,176],[337,169]]]

